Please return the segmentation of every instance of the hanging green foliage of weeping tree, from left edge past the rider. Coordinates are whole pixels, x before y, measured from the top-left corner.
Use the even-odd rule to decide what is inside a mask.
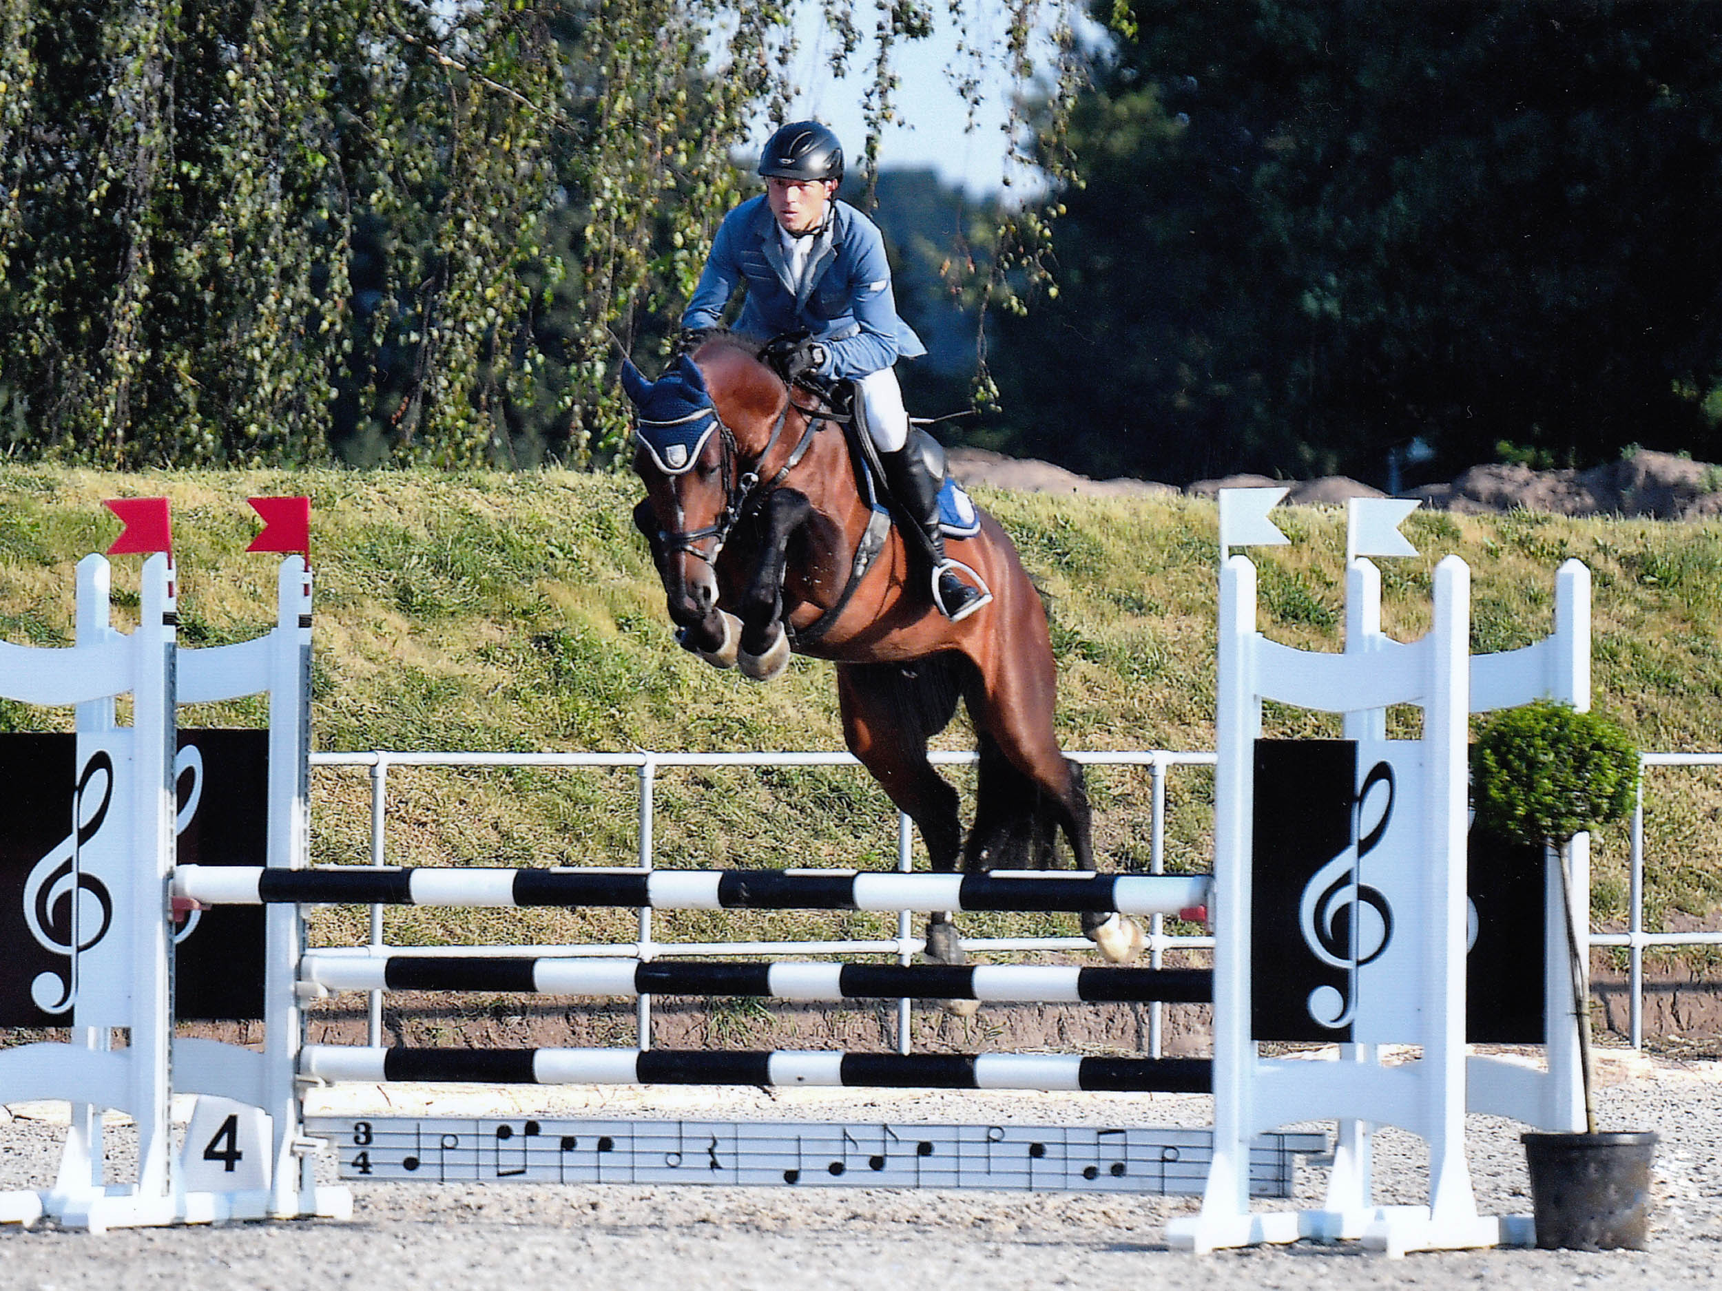
[[[1016,103],[1056,33],[1056,179],[1073,5],[1009,0],[994,41],[951,3],[971,102],[997,46]],[[852,0],[0,0],[0,453],[610,461],[611,332],[668,346],[804,12],[832,64],[866,43]],[[882,9],[868,170],[894,50],[930,29]],[[1011,138],[1042,165],[1021,115]],[[1045,224],[997,212],[954,277],[1014,300]]]

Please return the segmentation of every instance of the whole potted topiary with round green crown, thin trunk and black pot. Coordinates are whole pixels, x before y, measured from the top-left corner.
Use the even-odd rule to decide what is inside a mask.
[[[1553,849],[1560,862],[1586,1133],[1522,1136],[1541,1248],[1641,1250],[1646,1239],[1657,1136],[1596,1131],[1589,947],[1572,916],[1572,835],[1626,816],[1636,790],[1638,749],[1627,733],[1569,704],[1538,701],[1500,713],[1472,757],[1477,823],[1514,842]],[[1589,909],[1584,897],[1581,909]]]

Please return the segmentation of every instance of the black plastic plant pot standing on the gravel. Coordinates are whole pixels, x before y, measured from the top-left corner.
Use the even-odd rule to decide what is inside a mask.
[[[1521,1141],[1541,1250],[1645,1250],[1651,1131],[1521,1134]]]

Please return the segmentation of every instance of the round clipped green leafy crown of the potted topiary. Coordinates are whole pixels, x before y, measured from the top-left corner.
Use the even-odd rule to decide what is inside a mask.
[[[1565,845],[1632,811],[1638,749],[1619,723],[1539,699],[1495,716],[1472,752],[1477,823],[1519,843]]]

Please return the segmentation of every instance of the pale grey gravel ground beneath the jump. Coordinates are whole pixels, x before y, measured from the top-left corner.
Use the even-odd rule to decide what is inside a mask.
[[[1193,1201],[959,1191],[802,1191],[522,1184],[355,1186],[350,1224],[238,1224],[103,1236],[52,1226],[0,1232],[0,1289],[179,1291],[229,1288],[1694,1288],[1722,1284],[1722,1064],[1614,1059],[1600,1093],[1605,1127],[1655,1129],[1657,1201],[1648,1251],[1476,1251],[1384,1260],[1352,1246],[1300,1245],[1188,1257],[1168,1251],[1166,1219]],[[441,1091],[391,1086],[312,1110],[350,1114],[610,1115],[1026,1124],[1200,1126],[1207,1100],[1181,1095],[880,1096],[873,1091],[522,1090],[513,1103],[449,1105]],[[1484,1214],[1529,1210],[1519,1127],[1472,1119],[1472,1176]],[[119,1134],[115,1134],[117,1138]],[[59,1129],[19,1109],[0,1126],[0,1186],[52,1172]],[[1414,1201],[1415,1140],[1378,1138],[1378,1200]],[[1298,1203],[1324,1172],[1300,1174]]]

